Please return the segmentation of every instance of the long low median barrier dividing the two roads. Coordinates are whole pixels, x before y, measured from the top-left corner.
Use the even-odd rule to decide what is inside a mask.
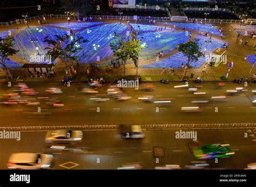
[[[256,128],[256,123],[204,123],[204,124],[140,124],[146,130],[168,129],[238,129]],[[80,130],[118,130],[119,125],[83,125],[83,126],[31,126],[31,127],[0,127],[0,130],[29,131],[29,130],[54,130],[54,129],[80,129]]]

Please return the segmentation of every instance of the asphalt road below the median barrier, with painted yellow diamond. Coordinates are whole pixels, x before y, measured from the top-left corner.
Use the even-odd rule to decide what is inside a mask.
[[[176,131],[144,130],[145,138],[142,140],[120,140],[117,138],[118,131],[84,131],[83,142],[71,145],[84,147],[81,153],[49,151],[43,146],[45,131],[22,132],[20,141],[0,140],[0,169],[6,169],[6,162],[12,153],[24,152],[53,153],[51,169],[117,169],[134,162],[140,162],[144,169],[154,169],[164,164],[179,164],[185,169],[185,165],[198,161],[191,153],[190,145],[212,143],[230,144],[235,154],[219,159],[218,163],[207,160],[210,169],[244,169],[248,163],[256,162],[256,142],[252,137],[252,134],[256,135],[256,129],[196,130],[197,141],[178,139]],[[248,133],[248,137],[245,137],[245,133]],[[154,147],[164,148],[165,156],[155,157]],[[156,163],[156,158],[159,158],[159,163]]]

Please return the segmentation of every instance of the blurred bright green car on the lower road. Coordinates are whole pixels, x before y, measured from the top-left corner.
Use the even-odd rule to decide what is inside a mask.
[[[227,158],[234,155],[229,144],[207,144],[193,149],[197,159]]]

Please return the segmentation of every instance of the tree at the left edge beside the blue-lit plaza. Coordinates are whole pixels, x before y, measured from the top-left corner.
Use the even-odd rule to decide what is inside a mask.
[[[10,60],[8,56],[13,56],[18,52],[18,50],[12,48],[15,45],[14,41],[15,39],[13,37],[0,37],[0,64],[4,67],[4,70],[6,70],[11,79],[11,73],[9,72],[5,62],[6,60]]]

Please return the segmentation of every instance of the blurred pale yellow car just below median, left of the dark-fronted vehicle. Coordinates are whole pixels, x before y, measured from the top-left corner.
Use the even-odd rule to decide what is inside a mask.
[[[46,133],[47,143],[78,143],[83,141],[83,132],[80,130],[50,130]]]

